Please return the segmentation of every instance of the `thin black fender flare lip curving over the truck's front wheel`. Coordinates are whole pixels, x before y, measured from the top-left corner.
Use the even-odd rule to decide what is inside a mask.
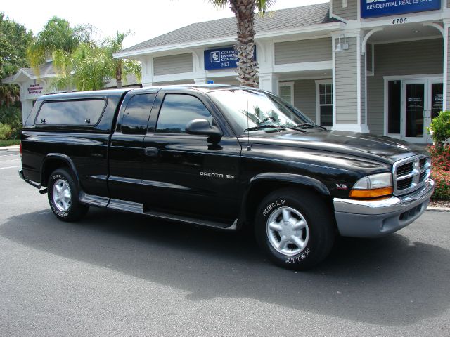
[[[312,187],[316,192],[319,192],[321,195],[330,196],[330,191],[326,187],[324,183],[316,178],[311,178],[308,176],[302,176],[300,174],[295,173],[277,173],[277,172],[267,172],[267,173],[259,173],[256,176],[252,177],[249,181],[249,184],[243,194],[243,200],[240,208],[240,218],[243,219],[244,222],[248,220],[248,197],[250,195],[250,191],[252,187],[254,187],[257,183],[262,181],[271,181],[271,182],[283,182],[283,183],[293,183],[293,185],[304,185],[307,187]]]

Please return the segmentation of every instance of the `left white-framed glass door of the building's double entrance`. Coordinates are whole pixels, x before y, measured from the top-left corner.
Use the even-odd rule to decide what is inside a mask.
[[[404,108],[401,116],[401,138],[426,143],[428,124],[428,81],[404,81]]]

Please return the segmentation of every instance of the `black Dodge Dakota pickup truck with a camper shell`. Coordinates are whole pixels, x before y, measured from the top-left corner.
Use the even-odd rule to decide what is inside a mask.
[[[89,206],[250,229],[278,265],[326,258],[336,234],[380,237],[425,211],[422,147],[328,131],[271,93],[169,86],[44,95],[25,122],[20,176],[53,213]]]

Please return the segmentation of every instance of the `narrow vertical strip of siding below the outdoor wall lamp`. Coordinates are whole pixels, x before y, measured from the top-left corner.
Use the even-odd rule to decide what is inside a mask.
[[[336,61],[336,122],[338,124],[356,124],[357,101],[357,55],[356,37],[347,39],[349,49],[342,53],[335,53]],[[335,44],[338,44],[336,39]]]

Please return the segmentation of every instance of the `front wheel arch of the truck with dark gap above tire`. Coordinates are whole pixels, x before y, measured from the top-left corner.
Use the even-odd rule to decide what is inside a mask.
[[[257,206],[266,195],[285,187],[306,189],[319,194],[323,199],[330,197],[330,191],[326,185],[316,178],[293,173],[260,173],[250,179],[244,192],[239,216],[240,226],[253,222]]]

